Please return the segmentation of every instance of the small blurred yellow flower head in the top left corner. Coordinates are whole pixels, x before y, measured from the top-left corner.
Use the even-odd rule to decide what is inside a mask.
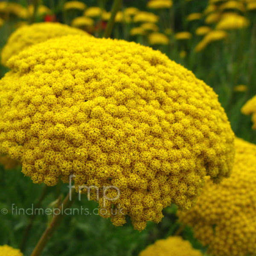
[[[19,3],[0,2],[0,13],[9,13],[22,19],[28,17],[27,9]]]

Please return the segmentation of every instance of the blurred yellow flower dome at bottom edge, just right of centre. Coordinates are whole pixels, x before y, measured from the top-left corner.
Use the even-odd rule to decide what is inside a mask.
[[[170,236],[149,245],[139,256],[203,256],[203,254],[195,250],[189,241],[179,236]]]

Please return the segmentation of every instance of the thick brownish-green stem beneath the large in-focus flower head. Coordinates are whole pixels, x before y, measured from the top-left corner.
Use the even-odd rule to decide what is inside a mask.
[[[72,189],[71,198],[70,198],[70,193],[68,193],[63,203],[58,207],[61,213],[53,217],[52,222],[44,231],[43,235],[41,236],[41,239],[38,241],[38,244],[33,250],[31,256],[41,255],[42,251],[44,250],[44,247],[46,246],[49,239],[52,237],[53,233],[57,230],[58,225],[61,223],[62,219],[64,218],[63,212],[65,211],[65,209],[69,208],[72,205],[72,203],[75,201],[75,198],[76,198],[75,194],[76,194],[76,190]]]

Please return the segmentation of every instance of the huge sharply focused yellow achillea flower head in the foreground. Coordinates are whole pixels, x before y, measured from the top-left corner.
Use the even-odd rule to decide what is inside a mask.
[[[116,226],[125,215],[112,215],[113,206],[143,230],[171,203],[195,204],[206,175],[230,176],[234,135],[217,95],[159,51],[69,35],[8,64],[0,153],[20,160],[34,183],[76,175],[76,186],[118,187],[116,201],[99,200]]]

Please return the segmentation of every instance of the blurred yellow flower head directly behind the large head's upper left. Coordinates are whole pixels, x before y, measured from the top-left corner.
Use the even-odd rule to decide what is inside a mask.
[[[6,65],[6,62],[13,55],[18,54],[31,45],[47,41],[49,38],[76,34],[87,35],[87,33],[82,30],[71,28],[61,23],[45,22],[22,26],[12,33],[7,44],[3,47],[1,62],[3,65]]]

